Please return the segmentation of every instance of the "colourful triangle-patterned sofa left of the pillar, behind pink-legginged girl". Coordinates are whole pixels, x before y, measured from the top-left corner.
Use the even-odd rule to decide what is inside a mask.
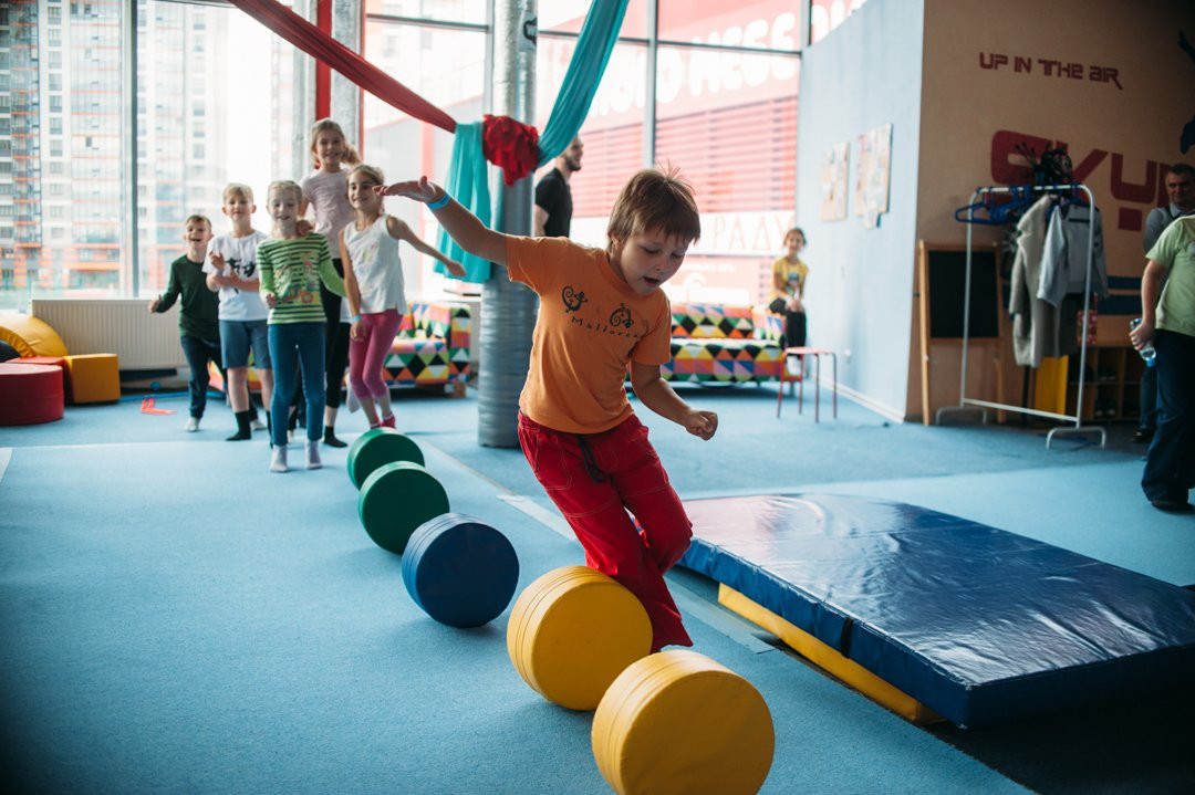
[[[415,301],[382,363],[396,387],[448,386],[465,395],[470,351],[468,307]]]

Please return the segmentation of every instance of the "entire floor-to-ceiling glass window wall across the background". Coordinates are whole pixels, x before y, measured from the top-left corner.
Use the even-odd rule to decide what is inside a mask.
[[[293,4],[304,13],[314,6]],[[456,121],[480,121],[492,72],[490,5],[368,0],[362,50]],[[811,23],[821,31],[859,5],[814,0]],[[539,5],[541,130],[589,6]],[[637,168],[667,162],[695,186],[704,228],[684,277],[669,289],[690,300],[761,297],[760,273],[792,220],[804,7],[791,0],[631,0],[581,128],[586,155],[572,180],[577,240],[603,245],[621,185]],[[122,60],[129,13],[136,14],[137,63],[131,129]],[[183,252],[186,216],[200,212],[217,233],[227,229],[220,202],[229,181],[255,190],[255,226],[268,230],[266,185],[298,179],[308,167],[312,74],[311,58],[219,4],[4,4],[0,307],[24,307],[44,294],[160,290],[168,263]],[[342,121],[347,129],[360,127],[364,159],[388,177],[443,179],[451,134],[368,95],[360,125]],[[135,186],[128,184],[128,152],[136,153]],[[388,209],[434,241],[429,214],[409,202]],[[412,295],[446,286],[428,258],[407,269]]]

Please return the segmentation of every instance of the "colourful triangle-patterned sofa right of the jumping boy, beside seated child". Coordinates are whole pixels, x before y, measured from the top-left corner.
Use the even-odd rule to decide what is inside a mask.
[[[783,321],[764,307],[674,303],[672,362],[664,381],[746,383],[779,381]]]

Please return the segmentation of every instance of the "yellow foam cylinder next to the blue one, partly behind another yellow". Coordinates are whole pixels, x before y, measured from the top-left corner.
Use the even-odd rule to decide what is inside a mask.
[[[586,566],[565,566],[528,585],[507,624],[519,676],[549,701],[594,709],[609,683],[651,651],[651,622],[624,586]]]

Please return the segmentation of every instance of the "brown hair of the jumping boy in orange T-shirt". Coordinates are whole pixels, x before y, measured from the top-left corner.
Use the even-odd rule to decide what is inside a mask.
[[[614,199],[607,238],[626,240],[649,229],[690,242],[701,236],[693,187],[675,168],[644,168],[631,177]]]

